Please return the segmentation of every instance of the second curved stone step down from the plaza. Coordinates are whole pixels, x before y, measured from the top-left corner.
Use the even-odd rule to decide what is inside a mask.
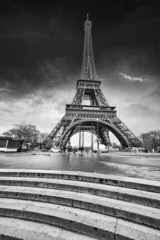
[[[0,185],[27,186],[85,192],[96,196],[110,197],[123,201],[160,208],[160,194],[98,183],[31,177],[0,177]]]

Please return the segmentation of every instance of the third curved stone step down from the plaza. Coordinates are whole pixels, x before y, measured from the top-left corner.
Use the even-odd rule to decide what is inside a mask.
[[[85,209],[160,229],[160,209],[117,199],[104,198],[86,193],[19,186],[6,186],[5,188],[4,186],[2,188],[0,186],[0,197],[40,201]]]

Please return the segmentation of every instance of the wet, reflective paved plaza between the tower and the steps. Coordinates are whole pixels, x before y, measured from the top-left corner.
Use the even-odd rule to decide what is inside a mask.
[[[159,153],[0,153],[0,168],[70,170],[160,180]]]

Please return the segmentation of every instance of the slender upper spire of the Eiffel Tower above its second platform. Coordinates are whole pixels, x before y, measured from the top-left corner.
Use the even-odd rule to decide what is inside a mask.
[[[84,23],[84,50],[83,50],[83,62],[80,79],[83,80],[95,80],[97,79],[96,68],[94,63],[92,35],[91,35],[92,22],[89,20],[89,14],[87,14],[87,20]]]

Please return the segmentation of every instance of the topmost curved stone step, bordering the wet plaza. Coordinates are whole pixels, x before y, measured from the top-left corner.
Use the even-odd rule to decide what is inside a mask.
[[[78,180],[160,193],[160,183],[158,181],[98,173],[58,170],[0,169],[0,176],[44,177]]]

